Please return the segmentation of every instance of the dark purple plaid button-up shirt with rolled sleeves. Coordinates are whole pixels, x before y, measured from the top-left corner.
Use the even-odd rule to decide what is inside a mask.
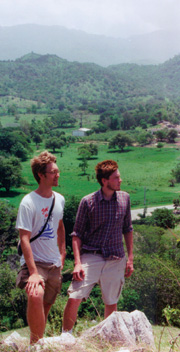
[[[124,257],[123,234],[132,231],[130,197],[116,191],[105,200],[101,190],[82,198],[71,236],[78,236],[82,249],[101,250],[104,258]]]

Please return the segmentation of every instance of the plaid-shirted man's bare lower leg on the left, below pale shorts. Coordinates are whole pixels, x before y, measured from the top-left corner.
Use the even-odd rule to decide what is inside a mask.
[[[64,331],[69,331],[73,328],[74,323],[76,322],[77,312],[81,299],[69,298],[64,310],[63,317],[63,329]]]

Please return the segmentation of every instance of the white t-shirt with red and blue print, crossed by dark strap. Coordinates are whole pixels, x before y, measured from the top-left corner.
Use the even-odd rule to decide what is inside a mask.
[[[64,197],[54,192],[55,204],[50,219],[43,233],[31,243],[33,257],[35,261],[52,263],[57,267],[61,266],[61,257],[57,244],[57,229],[59,221],[63,218]],[[18,216],[16,220],[16,228],[31,232],[31,238],[36,236],[42,229],[51,204],[51,198],[44,198],[35,191],[27,194],[21,201]],[[21,265],[25,263],[24,256],[20,259]]]

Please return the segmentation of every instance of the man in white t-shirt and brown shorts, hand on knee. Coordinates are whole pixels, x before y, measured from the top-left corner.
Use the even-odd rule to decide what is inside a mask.
[[[28,297],[27,321],[30,344],[43,337],[47,316],[61,289],[61,270],[66,256],[65,229],[63,224],[64,197],[52,191],[58,186],[59,169],[56,157],[44,151],[31,160],[38,188],[21,201],[16,228],[19,229],[22,256],[21,270],[16,284],[25,288]],[[55,203],[42,234],[41,232],[52,205]]]

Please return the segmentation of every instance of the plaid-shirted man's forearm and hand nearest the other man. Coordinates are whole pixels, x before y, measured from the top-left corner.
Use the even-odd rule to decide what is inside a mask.
[[[73,279],[77,281],[82,281],[84,279],[84,270],[81,265],[80,259],[80,250],[81,250],[82,241],[79,237],[73,236],[72,245],[74,252],[74,270],[73,270]]]

